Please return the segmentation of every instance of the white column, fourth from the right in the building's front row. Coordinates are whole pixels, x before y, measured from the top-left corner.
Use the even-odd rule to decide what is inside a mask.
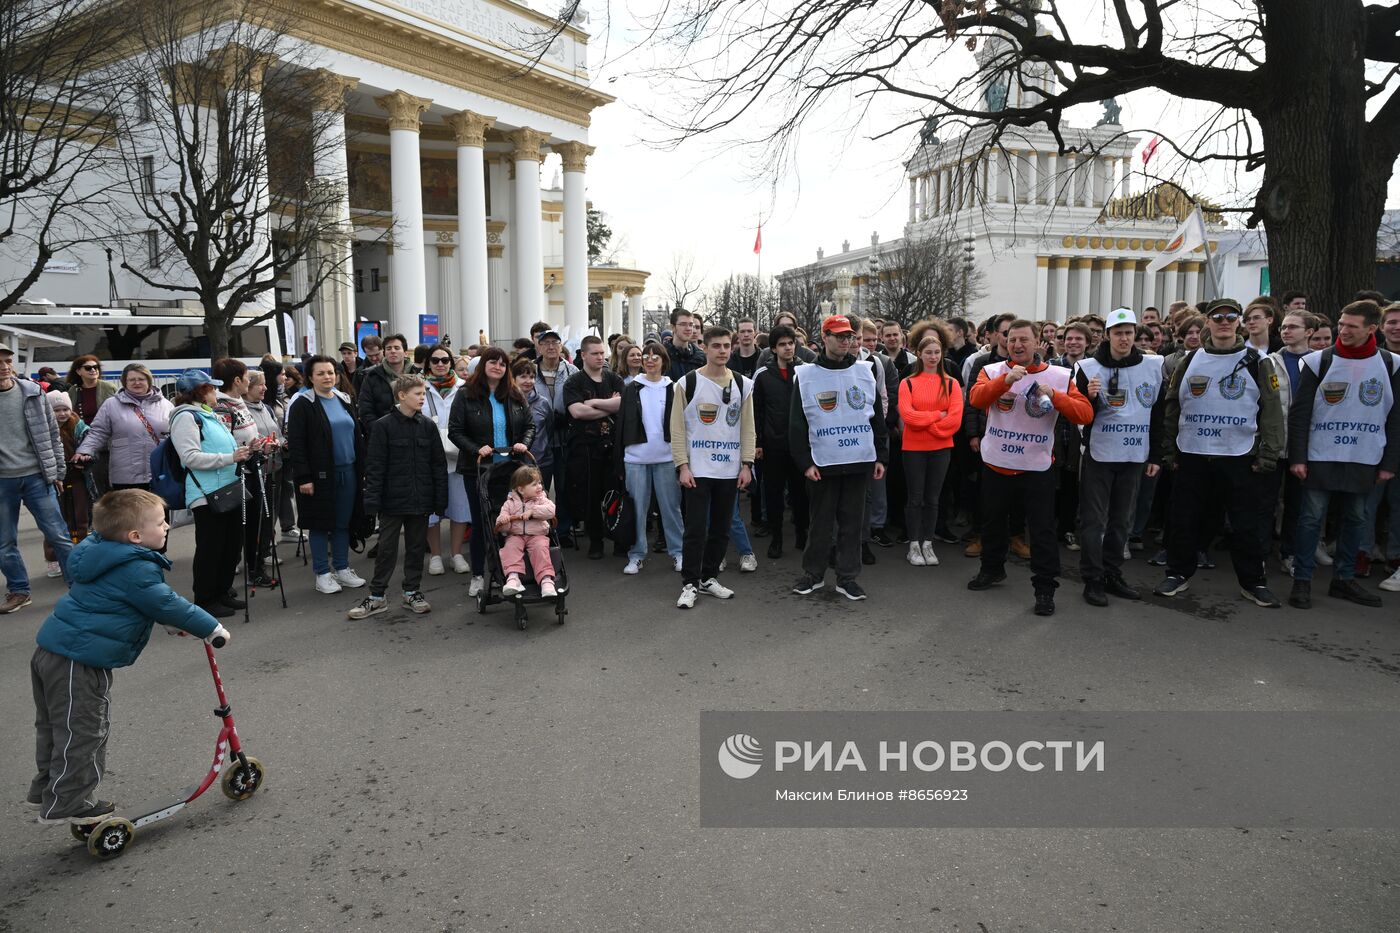
[[[417,340],[419,315],[428,311],[428,277],[423,242],[423,167],[419,127],[426,97],[393,91],[374,98],[389,111],[389,202],[393,207],[393,258],[389,261],[389,328]]]

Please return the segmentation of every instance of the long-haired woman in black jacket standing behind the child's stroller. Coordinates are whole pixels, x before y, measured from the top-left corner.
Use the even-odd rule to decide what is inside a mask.
[[[493,452],[504,447],[524,454],[535,440],[535,419],[531,417],[525,396],[515,388],[505,350],[490,346],[482,352],[476,371],[452,399],[447,438],[461,451],[456,472],[462,474],[466,502],[472,507],[472,586],[468,595],[476,595],[486,584],[486,546],[482,535],[491,534],[496,521],[496,516],[482,514],[482,497],[476,492],[477,458],[505,459],[504,454]]]

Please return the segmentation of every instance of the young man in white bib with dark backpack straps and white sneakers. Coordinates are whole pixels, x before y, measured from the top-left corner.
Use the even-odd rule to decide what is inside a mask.
[[[672,385],[671,458],[685,496],[686,531],[680,546],[680,598],[690,609],[700,593],[728,600],[720,563],[729,548],[729,523],[753,468],[753,380],[725,366],[732,335],[707,328],[706,363]]]

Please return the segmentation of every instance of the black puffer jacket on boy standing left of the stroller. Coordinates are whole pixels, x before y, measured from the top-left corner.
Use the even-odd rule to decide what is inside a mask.
[[[447,454],[437,424],[398,406],[370,427],[364,510],[385,516],[447,511]]]

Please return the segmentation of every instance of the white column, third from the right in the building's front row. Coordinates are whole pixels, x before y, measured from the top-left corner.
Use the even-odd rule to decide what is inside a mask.
[[[494,116],[462,111],[447,118],[456,139],[456,231],[462,255],[456,261],[459,310],[448,333],[461,346],[476,343],[489,329],[491,305],[486,277],[486,130]],[[441,249],[438,256],[441,256]]]

